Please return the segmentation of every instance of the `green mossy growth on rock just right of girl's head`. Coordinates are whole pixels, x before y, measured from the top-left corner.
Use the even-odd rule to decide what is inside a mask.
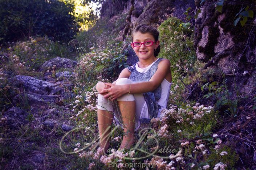
[[[158,57],[170,60],[174,83],[178,81],[178,78],[186,76],[186,72],[192,69],[196,60],[193,29],[180,26],[182,23],[183,21],[178,18],[171,17],[158,28],[161,46]]]

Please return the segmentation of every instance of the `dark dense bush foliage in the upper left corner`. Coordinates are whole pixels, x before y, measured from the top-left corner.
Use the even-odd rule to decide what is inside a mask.
[[[0,0],[0,42],[32,35],[69,40],[78,30],[73,9],[56,0]]]

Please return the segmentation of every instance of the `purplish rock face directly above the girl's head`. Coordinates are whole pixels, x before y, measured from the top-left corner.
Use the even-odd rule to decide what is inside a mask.
[[[139,24],[157,27],[168,17],[177,17],[184,21],[186,16],[183,12],[188,7],[195,9],[194,0],[130,0],[127,2],[127,8],[130,10],[126,17],[126,25],[120,36],[125,39],[125,36],[130,35]]]

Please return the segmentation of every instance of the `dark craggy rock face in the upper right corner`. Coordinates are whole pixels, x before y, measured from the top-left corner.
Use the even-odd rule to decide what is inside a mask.
[[[202,11],[195,21],[194,47],[197,58],[206,62],[204,68],[222,70],[230,89],[235,88],[236,82],[237,88],[244,94],[255,91],[255,26],[250,22],[256,22],[256,19],[248,18],[247,25],[243,27],[240,23],[233,26],[233,19],[240,10],[238,1],[224,3],[222,13],[215,11],[215,6],[208,1],[201,5],[200,2],[195,1],[196,8]],[[243,3],[251,6],[253,1]]]

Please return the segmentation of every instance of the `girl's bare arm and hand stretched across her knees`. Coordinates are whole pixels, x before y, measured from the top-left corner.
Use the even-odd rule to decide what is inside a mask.
[[[111,101],[113,101],[126,93],[134,94],[134,93],[153,92],[161,84],[163,79],[166,77],[167,73],[170,72],[170,66],[171,66],[170,61],[163,59],[158,64],[157,71],[149,81],[139,82],[134,84],[126,84],[126,85],[115,85],[111,83],[106,83],[106,85],[110,86],[111,88],[102,90],[100,94],[107,93],[106,95],[104,95],[104,98],[109,98]]]

